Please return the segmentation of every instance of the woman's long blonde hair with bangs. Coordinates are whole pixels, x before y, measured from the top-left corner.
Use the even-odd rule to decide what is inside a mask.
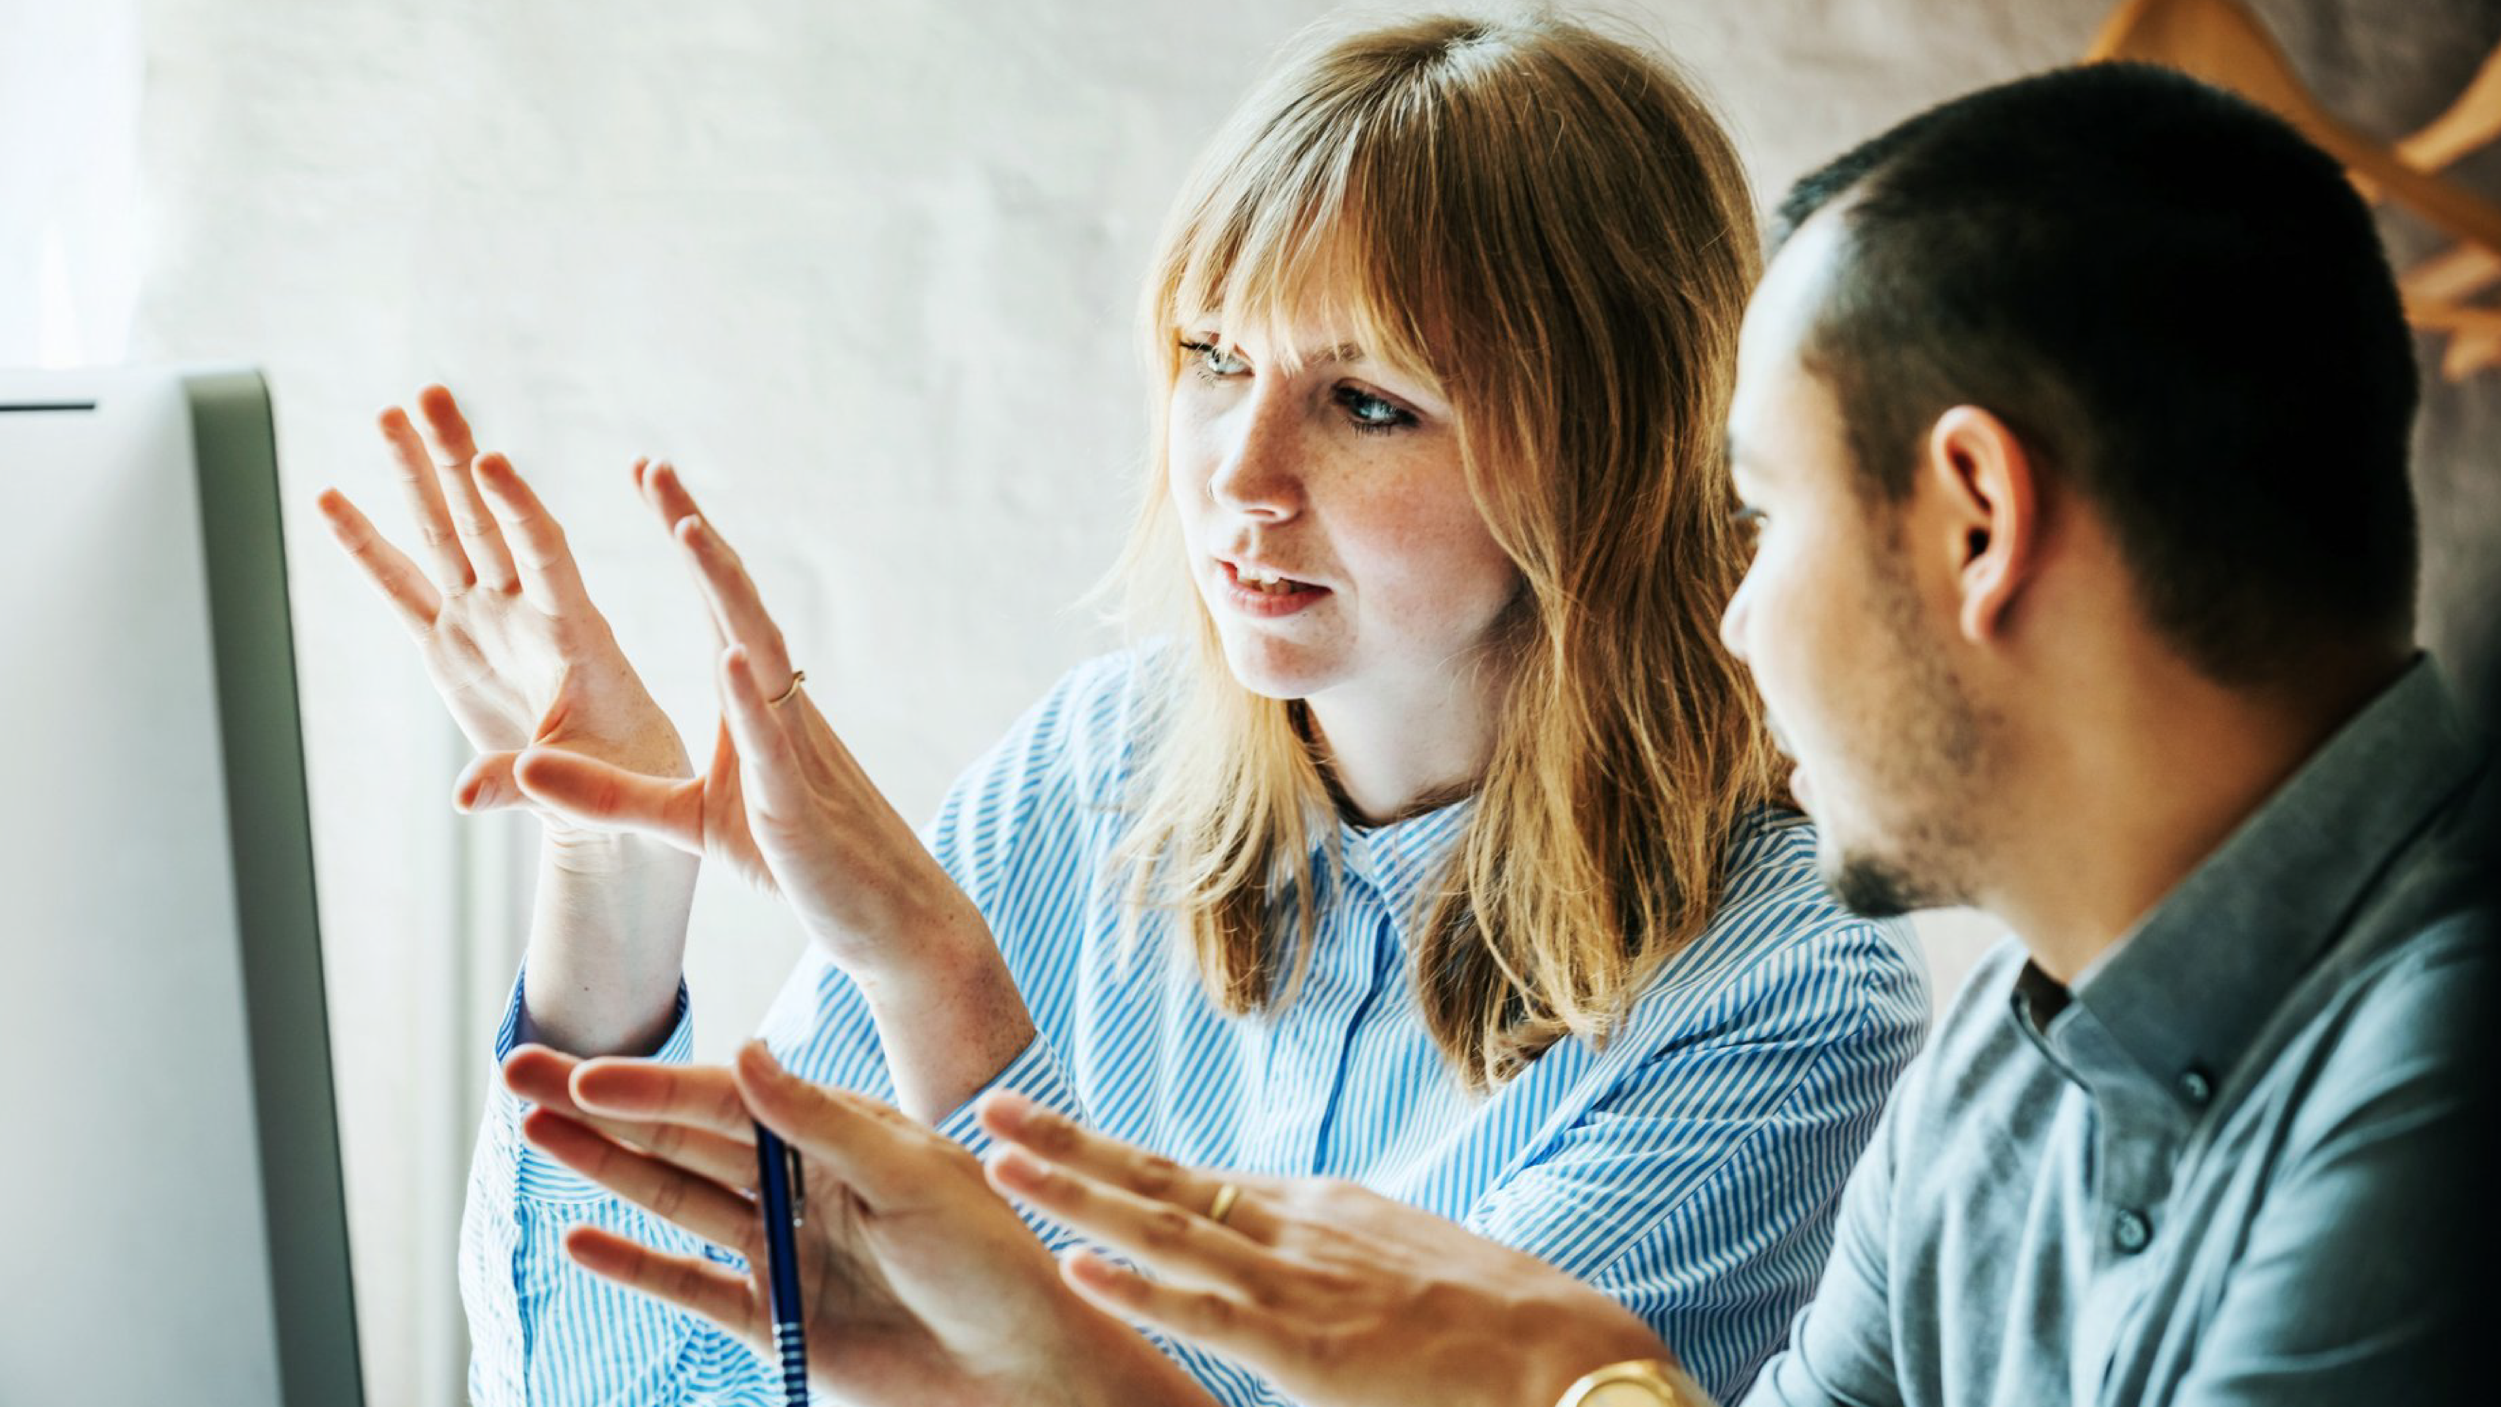
[[[1215,310],[1233,340],[1323,317],[1426,375],[1523,577],[1488,642],[1503,705],[1478,805],[1413,945],[1426,1027],[1486,1090],[1608,1037],[1708,925],[1738,820],[1778,795],[1716,635],[1743,575],[1721,425],[1758,257],[1711,110],[1661,60],[1546,15],[1321,40],[1218,132],[1145,287],[1155,472],[1120,580],[1183,660],[1120,860],[1130,915],[1175,912],[1223,1010],[1293,1000],[1336,822],[1303,705],[1230,677],[1190,590],[1163,492],[1178,320]]]

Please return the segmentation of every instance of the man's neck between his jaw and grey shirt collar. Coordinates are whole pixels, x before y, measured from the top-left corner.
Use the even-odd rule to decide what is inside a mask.
[[[2323,667],[2298,690],[2123,672],[2031,730],[1983,907],[2073,985],[2266,805],[2403,660]]]

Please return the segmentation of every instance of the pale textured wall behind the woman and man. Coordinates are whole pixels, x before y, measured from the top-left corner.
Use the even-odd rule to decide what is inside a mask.
[[[1628,17],[1716,92],[1761,190],[1948,92],[2078,52],[2106,0],[1683,0]],[[675,457],[810,690],[908,815],[1108,635],[1070,602],[1140,465],[1133,282],[1195,145],[1313,0],[148,0],[138,352],[278,390],[368,1382],[460,1397],[450,1282],[530,825],[448,810],[465,747],[310,510],[403,522],[370,415],[470,397],[573,530],[663,705],[713,727],[690,585],[625,490]],[[2266,0],[2383,132],[2493,0]],[[2481,167],[2488,172],[2488,165]],[[2476,175],[2473,170],[2468,175]],[[2491,190],[2493,182],[2483,180]],[[2396,230],[2406,247],[2416,232]],[[2501,525],[2491,387],[2436,392],[2433,630]],[[2488,555],[2486,555],[2488,557]],[[1941,967],[1971,932],[1936,927]],[[698,1050],[795,947],[708,880]]]

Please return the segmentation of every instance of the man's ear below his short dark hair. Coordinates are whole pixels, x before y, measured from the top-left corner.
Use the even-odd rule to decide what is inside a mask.
[[[1923,472],[1941,502],[1938,530],[1948,535],[1956,625],[1981,645],[2006,627],[2033,572],[2041,532],[2033,460],[2003,420],[1956,405],[1928,430]]]

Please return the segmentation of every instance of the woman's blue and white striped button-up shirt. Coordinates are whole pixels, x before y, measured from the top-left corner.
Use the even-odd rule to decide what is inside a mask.
[[[1035,1042],[993,1085],[1185,1162],[1346,1177],[1441,1212],[1598,1285],[1711,1392],[1743,1392],[1813,1290],[1841,1182],[1926,1030],[1908,927],[1838,910],[1806,820],[1766,812],[1731,837],[1711,927],[1606,1050],[1563,1042],[1471,1095],[1426,1032],[1406,950],[1416,900],[1466,830],[1471,802],[1456,802],[1341,825],[1301,992],[1281,1012],[1228,1017],[1165,925],[1148,917],[1140,942],[1123,942],[1110,852],[1153,660],[1073,670],[955,782],[928,832],[1033,1010]],[[515,985],[498,1060],[518,1015]],[[795,1072],[893,1097],[865,1000],[815,952],[763,1037]],[[688,1050],[680,992],[660,1057]],[[473,1397],[778,1405],[780,1380],[753,1347],[565,1260],[565,1230],[585,1222],[723,1252],[523,1145],[520,1115],[495,1085],[470,1170]],[[970,1107],[940,1127],[985,1145]],[[1193,1347],[1168,1352],[1223,1402],[1283,1402]]]

